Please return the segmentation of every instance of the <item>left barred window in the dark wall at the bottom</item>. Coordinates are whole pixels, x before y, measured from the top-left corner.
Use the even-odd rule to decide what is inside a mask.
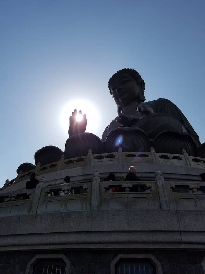
[[[65,271],[62,263],[42,262],[35,267],[33,274],[65,274]]]

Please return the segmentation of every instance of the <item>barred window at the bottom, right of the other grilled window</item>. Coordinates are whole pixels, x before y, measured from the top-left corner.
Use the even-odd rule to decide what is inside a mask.
[[[120,263],[117,274],[154,274],[150,263]]]

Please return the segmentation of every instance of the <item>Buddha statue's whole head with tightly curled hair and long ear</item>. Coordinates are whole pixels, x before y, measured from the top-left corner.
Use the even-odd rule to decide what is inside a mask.
[[[135,100],[139,103],[145,101],[144,80],[131,68],[124,68],[112,75],[108,88],[119,110]]]

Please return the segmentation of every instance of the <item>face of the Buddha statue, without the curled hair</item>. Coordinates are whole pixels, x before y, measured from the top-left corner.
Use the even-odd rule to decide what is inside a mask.
[[[140,87],[128,73],[119,74],[113,79],[110,90],[118,107],[124,107],[134,100],[139,100]]]

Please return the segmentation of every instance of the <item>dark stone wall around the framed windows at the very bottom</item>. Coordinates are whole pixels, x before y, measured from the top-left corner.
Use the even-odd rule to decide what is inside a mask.
[[[37,254],[64,254],[71,262],[70,274],[110,274],[110,263],[118,254],[152,254],[161,264],[163,274],[204,274],[204,251],[176,250],[64,250],[18,251],[0,253],[1,274],[24,274],[28,262]]]

